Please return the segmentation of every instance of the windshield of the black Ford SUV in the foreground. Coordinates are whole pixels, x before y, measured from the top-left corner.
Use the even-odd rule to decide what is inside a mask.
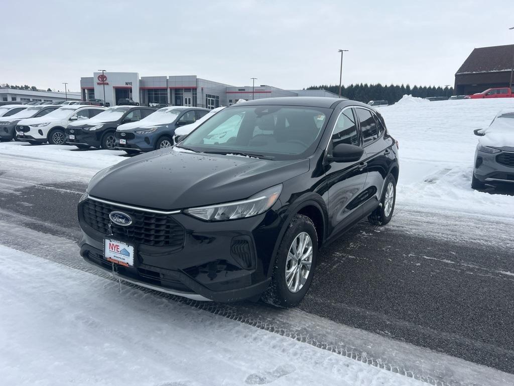
[[[179,147],[198,152],[298,159],[314,151],[331,110],[296,106],[241,106],[222,110]]]

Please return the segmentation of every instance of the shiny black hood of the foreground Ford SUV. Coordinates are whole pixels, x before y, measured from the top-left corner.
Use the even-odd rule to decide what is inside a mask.
[[[308,170],[308,160],[270,161],[169,148],[100,171],[87,191],[104,200],[174,210],[245,199]]]

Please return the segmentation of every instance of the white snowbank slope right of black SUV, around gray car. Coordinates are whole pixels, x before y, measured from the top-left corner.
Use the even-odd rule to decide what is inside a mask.
[[[506,216],[514,199],[471,189],[475,147],[483,129],[514,98],[429,102],[404,97],[379,108],[389,132],[399,142],[397,210],[404,206],[443,212]]]

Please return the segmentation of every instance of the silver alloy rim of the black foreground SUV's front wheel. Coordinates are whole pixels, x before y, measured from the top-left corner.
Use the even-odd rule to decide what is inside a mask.
[[[293,293],[302,289],[310,273],[313,262],[313,241],[306,232],[300,233],[292,241],[286,260],[286,285]]]

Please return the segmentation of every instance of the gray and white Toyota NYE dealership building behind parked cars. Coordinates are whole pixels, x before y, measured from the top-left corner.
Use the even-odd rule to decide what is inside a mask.
[[[116,106],[117,101],[129,98],[141,105],[150,102],[172,106],[196,106],[214,109],[230,106],[239,99],[260,99],[283,96],[335,97],[326,90],[282,90],[268,85],[233,86],[196,75],[143,76],[138,73],[96,72],[93,77],[80,78],[82,100],[104,99]],[[105,95],[105,97],[104,97]]]

